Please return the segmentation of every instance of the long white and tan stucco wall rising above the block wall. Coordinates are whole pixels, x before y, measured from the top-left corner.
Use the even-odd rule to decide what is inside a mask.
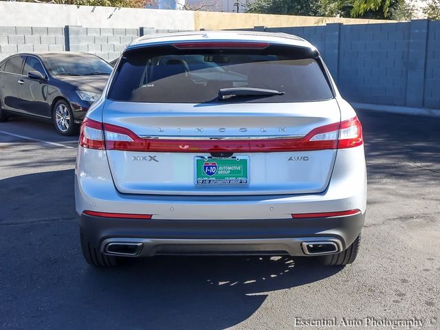
[[[272,28],[386,22],[393,21],[0,1],[0,26],[63,28],[65,25],[80,25],[84,28],[124,29],[146,26],[158,30],[226,30],[259,25]]]

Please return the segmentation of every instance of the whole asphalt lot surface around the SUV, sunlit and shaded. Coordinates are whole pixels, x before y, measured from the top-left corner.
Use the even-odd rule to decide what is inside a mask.
[[[369,197],[347,267],[167,256],[98,270],[79,246],[78,137],[0,123],[0,329],[440,329],[440,119],[358,114]],[[300,326],[320,319],[329,327]]]

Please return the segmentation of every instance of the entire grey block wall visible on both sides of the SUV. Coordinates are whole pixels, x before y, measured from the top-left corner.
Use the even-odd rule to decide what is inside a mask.
[[[342,96],[350,102],[440,109],[440,21],[256,26],[246,30],[296,34],[310,41],[325,58]],[[111,61],[138,36],[177,31],[0,26],[0,60],[17,52],[70,50]]]

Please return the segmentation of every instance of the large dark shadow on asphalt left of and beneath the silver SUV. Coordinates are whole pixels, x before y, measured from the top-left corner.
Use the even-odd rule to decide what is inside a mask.
[[[265,292],[342,270],[289,256],[166,256],[98,270],[80,252],[73,181],[73,170],[0,181],[0,200],[7,201],[0,216],[0,327],[224,329],[259,309]]]

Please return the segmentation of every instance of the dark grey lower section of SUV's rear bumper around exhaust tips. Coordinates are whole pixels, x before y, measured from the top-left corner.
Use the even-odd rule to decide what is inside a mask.
[[[313,219],[115,219],[81,214],[80,227],[102,252],[109,243],[142,243],[136,256],[156,254],[267,254],[305,256],[302,243],[333,242],[345,250],[365,214]]]

